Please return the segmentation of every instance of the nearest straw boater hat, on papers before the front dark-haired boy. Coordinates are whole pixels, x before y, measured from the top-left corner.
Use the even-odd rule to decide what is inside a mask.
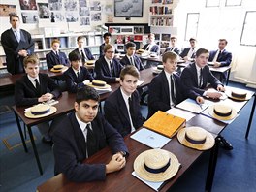
[[[134,161],[135,173],[147,181],[162,182],[176,176],[180,167],[176,156],[163,149],[149,149]]]

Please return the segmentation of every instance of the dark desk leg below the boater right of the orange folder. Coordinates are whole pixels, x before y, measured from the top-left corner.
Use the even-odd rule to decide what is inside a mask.
[[[216,137],[215,145],[213,146],[213,148],[211,148],[211,151],[210,151],[210,157],[208,162],[208,177],[207,177],[206,188],[205,188],[206,189],[205,191],[207,192],[211,191],[211,187],[213,183],[213,178],[214,178],[217,158],[218,158],[219,143],[220,143],[220,138]]]

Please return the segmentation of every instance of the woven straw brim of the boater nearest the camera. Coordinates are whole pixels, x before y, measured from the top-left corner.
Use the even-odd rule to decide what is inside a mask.
[[[135,173],[141,178],[143,178],[144,180],[152,181],[152,182],[163,182],[165,180],[172,178],[173,176],[176,176],[176,173],[180,167],[180,163],[178,162],[176,156],[167,150],[164,150],[164,151],[168,153],[169,157],[171,158],[171,162],[170,162],[169,168],[165,172],[162,172],[159,174],[152,174],[150,172],[147,172],[144,169],[144,157],[150,154],[152,150],[155,150],[155,149],[146,150],[142,152],[140,155],[138,155],[138,157],[135,159],[134,161]]]

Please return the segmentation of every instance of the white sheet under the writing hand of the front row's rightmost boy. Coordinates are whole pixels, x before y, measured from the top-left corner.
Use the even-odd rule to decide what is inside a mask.
[[[199,105],[195,100],[188,98],[182,101],[180,104],[176,105],[176,108],[199,114],[208,108],[208,104],[205,103]]]

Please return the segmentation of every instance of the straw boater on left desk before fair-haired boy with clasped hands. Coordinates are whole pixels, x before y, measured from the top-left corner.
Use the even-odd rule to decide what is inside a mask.
[[[54,112],[57,112],[55,107],[47,104],[38,104],[25,112],[25,116],[28,118],[41,118],[53,114]]]

